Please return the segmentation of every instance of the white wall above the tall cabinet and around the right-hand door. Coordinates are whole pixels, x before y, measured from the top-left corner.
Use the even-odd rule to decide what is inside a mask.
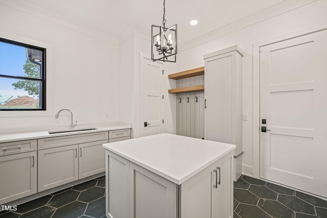
[[[177,56],[177,71],[203,66],[204,54],[235,44],[245,52],[243,58],[243,113],[249,115],[249,120],[243,122],[243,173],[245,174],[253,175],[253,170],[258,171],[252,166],[253,160],[259,158],[253,156],[253,122],[259,122],[259,120],[253,120],[253,94],[258,93],[253,93],[252,46],[254,43],[327,21],[325,10],[327,1],[307,1],[307,3],[309,4],[288,8],[284,11],[283,8],[280,8],[277,10],[279,15],[267,10],[258,17],[251,17],[251,23],[254,24],[247,23],[247,20],[241,20],[180,46],[181,49]],[[270,17],[267,17],[268,15]]]

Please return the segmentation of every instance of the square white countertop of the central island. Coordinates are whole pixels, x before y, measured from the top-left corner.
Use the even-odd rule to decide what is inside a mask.
[[[178,185],[236,149],[233,144],[168,133],[106,143],[103,147]]]

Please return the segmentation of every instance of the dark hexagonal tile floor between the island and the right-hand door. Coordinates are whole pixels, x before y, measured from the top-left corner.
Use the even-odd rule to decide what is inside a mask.
[[[234,218],[327,218],[327,201],[248,176],[234,182]]]

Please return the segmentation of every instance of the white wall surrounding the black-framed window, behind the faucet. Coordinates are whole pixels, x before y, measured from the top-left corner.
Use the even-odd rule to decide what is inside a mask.
[[[1,133],[24,127],[29,130],[52,125],[68,127],[68,113],[61,114],[59,119],[54,118],[62,108],[71,109],[79,124],[119,120],[118,43],[97,37],[91,31],[70,28],[66,23],[53,22],[1,3],[0,20],[0,37],[10,35],[49,46],[49,82],[52,79],[52,90],[47,99],[52,103],[48,108],[51,113],[10,117],[0,111]]]

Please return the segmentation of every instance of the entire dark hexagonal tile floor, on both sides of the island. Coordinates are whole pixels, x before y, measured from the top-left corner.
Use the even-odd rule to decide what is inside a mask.
[[[105,216],[105,177],[66,188],[0,212],[0,218],[87,218]],[[263,180],[234,182],[234,218],[327,218],[327,201]]]

